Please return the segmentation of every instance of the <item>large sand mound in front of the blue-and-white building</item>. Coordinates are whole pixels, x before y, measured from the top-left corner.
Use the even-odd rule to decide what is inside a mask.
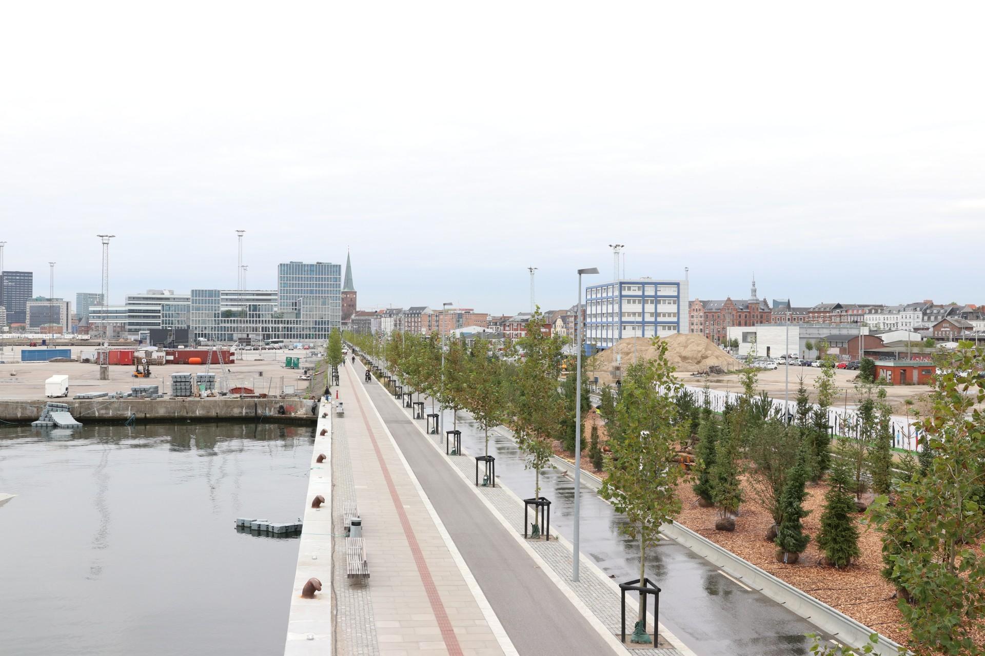
[[[667,342],[667,359],[678,371],[694,372],[718,365],[725,371],[742,369],[743,364],[715,346],[703,334],[672,334],[662,337]],[[649,337],[628,337],[621,339],[612,348],[607,348],[588,361],[592,376],[599,377],[599,383],[609,385],[614,377],[616,356],[622,356],[622,366],[632,364],[633,358],[643,360],[653,358],[655,349]],[[616,378],[619,378],[618,376]]]

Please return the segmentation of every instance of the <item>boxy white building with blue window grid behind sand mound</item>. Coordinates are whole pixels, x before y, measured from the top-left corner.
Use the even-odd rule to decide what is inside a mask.
[[[642,277],[585,288],[585,343],[609,348],[625,337],[689,331],[687,280]]]

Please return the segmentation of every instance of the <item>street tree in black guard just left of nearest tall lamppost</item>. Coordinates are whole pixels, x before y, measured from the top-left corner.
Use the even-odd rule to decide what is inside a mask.
[[[517,445],[526,453],[526,467],[534,470],[534,497],[541,496],[541,470],[554,455],[553,442],[564,418],[558,395],[561,349],[558,336],[548,336],[544,315],[537,308],[527,323],[527,334],[517,340],[523,357],[511,389]],[[535,536],[540,526],[533,525]]]

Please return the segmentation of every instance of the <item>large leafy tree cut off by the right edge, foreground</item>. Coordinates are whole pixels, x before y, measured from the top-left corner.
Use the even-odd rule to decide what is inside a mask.
[[[946,356],[934,405],[922,429],[934,458],[927,472],[899,484],[895,504],[869,508],[882,529],[884,575],[913,639],[935,653],[979,656],[975,629],[985,622],[985,559],[973,546],[985,530],[985,367],[978,349]]]

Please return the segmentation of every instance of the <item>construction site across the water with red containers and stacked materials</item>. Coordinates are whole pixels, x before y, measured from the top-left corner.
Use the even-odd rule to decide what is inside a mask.
[[[310,406],[305,399],[320,356],[314,350],[5,346],[0,420],[36,421],[50,402],[83,420],[290,417]]]

